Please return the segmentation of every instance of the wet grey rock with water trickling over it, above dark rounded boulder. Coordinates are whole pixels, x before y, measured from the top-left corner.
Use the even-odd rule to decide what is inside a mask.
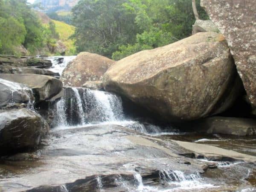
[[[0,90],[0,109],[23,107],[34,101],[32,90],[24,84],[0,79]]]

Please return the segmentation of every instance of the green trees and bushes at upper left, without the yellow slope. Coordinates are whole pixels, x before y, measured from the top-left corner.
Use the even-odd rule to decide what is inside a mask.
[[[21,45],[35,54],[51,46],[55,38],[55,24],[44,27],[26,0],[0,0],[1,54],[19,55]]]

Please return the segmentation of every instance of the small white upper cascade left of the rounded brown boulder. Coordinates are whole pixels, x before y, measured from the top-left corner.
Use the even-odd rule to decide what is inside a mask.
[[[76,56],[55,56],[47,57],[45,59],[50,60],[52,62],[52,68],[50,68],[49,70],[51,70],[54,73],[59,73],[61,75],[67,64],[70,61],[73,61],[74,58],[76,58]]]

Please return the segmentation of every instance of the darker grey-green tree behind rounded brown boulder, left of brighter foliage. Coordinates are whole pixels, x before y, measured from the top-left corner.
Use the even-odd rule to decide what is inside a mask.
[[[73,8],[78,52],[88,51],[111,57],[119,46],[136,41],[140,29],[135,14],[123,6],[127,0],[81,0]]]

